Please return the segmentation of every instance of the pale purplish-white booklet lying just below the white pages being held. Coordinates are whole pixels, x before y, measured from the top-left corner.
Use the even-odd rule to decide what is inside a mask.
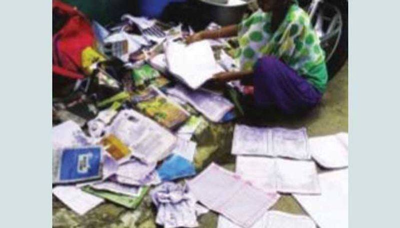
[[[234,105],[223,96],[204,89],[194,91],[178,84],[167,89],[166,92],[169,95],[189,103],[212,122],[219,122],[223,116],[234,107]]]

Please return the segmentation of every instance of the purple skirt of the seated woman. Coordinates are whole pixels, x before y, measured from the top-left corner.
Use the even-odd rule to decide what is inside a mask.
[[[256,106],[276,106],[285,114],[305,112],[318,104],[322,97],[305,78],[271,56],[264,56],[256,62],[253,86]]]

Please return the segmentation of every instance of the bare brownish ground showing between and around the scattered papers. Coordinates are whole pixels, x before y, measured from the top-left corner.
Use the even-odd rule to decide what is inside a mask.
[[[321,104],[301,118],[286,119],[279,116],[268,117],[263,125],[282,127],[306,127],[309,136],[333,134],[348,130],[348,87],[347,64],[329,82]],[[195,164],[198,169],[211,161],[226,169],[234,170],[234,157],[230,155],[233,124],[206,127],[211,134],[198,134]],[[218,146],[215,146],[218,145]],[[112,203],[103,203],[84,216],[78,216],[53,197],[52,223],[55,228],[155,228],[156,211],[147,196],[139,208],[127,210]],[[294,213],[304,213],[289,195],[282,196],[274,209]],[[198,219],[200,228],[215,228],[217,215],[213,212]]]

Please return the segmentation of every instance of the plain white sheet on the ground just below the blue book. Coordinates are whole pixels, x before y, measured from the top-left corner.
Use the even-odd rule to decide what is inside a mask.
[[[57,186],[53,188],[52,193],[80,216],[104,202],[103,199],[85,193],[74,186]]]

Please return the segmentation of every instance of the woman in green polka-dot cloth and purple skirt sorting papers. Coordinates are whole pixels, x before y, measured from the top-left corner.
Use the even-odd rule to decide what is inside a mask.
[[[327,82],[325,56],[308,14],[292,0],[258,0],[260,9],[238,25],[201,31],[187,42],[238,36],[241,71],[215,80],[252,77],[256,106],[286,114],[307,111],[321,99]]]

